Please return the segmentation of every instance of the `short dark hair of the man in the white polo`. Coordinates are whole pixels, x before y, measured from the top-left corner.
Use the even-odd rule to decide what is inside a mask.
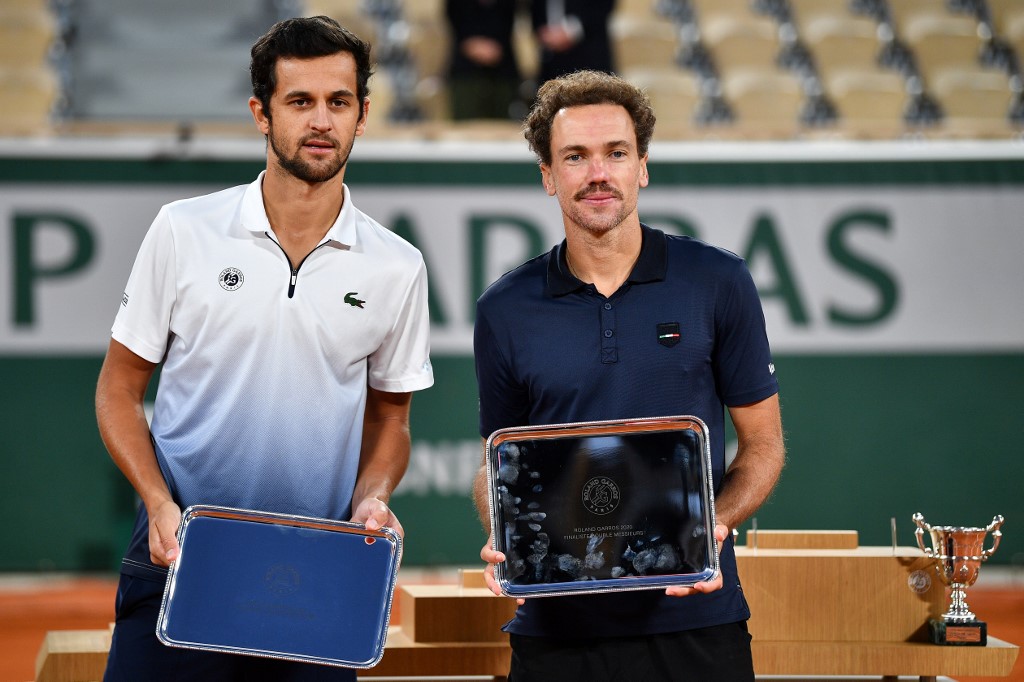
[[[270,118],[270,96],[278,85],[278,59],[308,59],[349,52],[355,58],[355,95],[359,102],[370,94],[370,43],[345,29],[330,16],[300,16],[278,22],[253,44],[249,77],[253,96],[260,100],[263,113]],[[362,108],[359,108],[361,117]]]

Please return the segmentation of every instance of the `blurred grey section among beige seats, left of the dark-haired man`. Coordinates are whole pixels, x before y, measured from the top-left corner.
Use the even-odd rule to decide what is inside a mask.
[[[249,50],[282,18],[261,0],[80,3],[70,114],[81,120],[248,121]]]

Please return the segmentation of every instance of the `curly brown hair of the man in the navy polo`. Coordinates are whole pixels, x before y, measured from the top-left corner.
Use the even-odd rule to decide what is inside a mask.
[[[567,106],[585,104],[622,105],[633,119],[637,152],[641,157],[647,154],[654,134],[654,110],[644,91],[618,76],[600,71],[578,71],[542,85],[526,116],[523,135],[541,163],[551,165],[551,125],[555,115]]]

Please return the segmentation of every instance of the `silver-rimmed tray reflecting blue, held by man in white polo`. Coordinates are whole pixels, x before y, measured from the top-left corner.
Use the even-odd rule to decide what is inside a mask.
[[[197,505],[178,543],[164,644],[346,668],[384,655],[401,560],[391,528]]]

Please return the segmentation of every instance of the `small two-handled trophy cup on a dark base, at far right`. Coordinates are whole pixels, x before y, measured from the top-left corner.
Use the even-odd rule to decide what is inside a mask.
[[[930,619],[929,634],[935,644],[984,646],[988,628],[971,612],[967,605],[967,589],[978,580],[981,564],[995,553],[1002,538],[999,526],[1002,517],[992,517],[984,528],[958,525],[930,525],[919,512],[913,515],[918,525],[914,535],[918,546],[930,559],[935,560],[935,572],[950,588],[949,610],[942,620]],[[925,546],[925,534],[932,539],[932,547]],[[985,537],[992,534],[992,546],[983,549]]]

